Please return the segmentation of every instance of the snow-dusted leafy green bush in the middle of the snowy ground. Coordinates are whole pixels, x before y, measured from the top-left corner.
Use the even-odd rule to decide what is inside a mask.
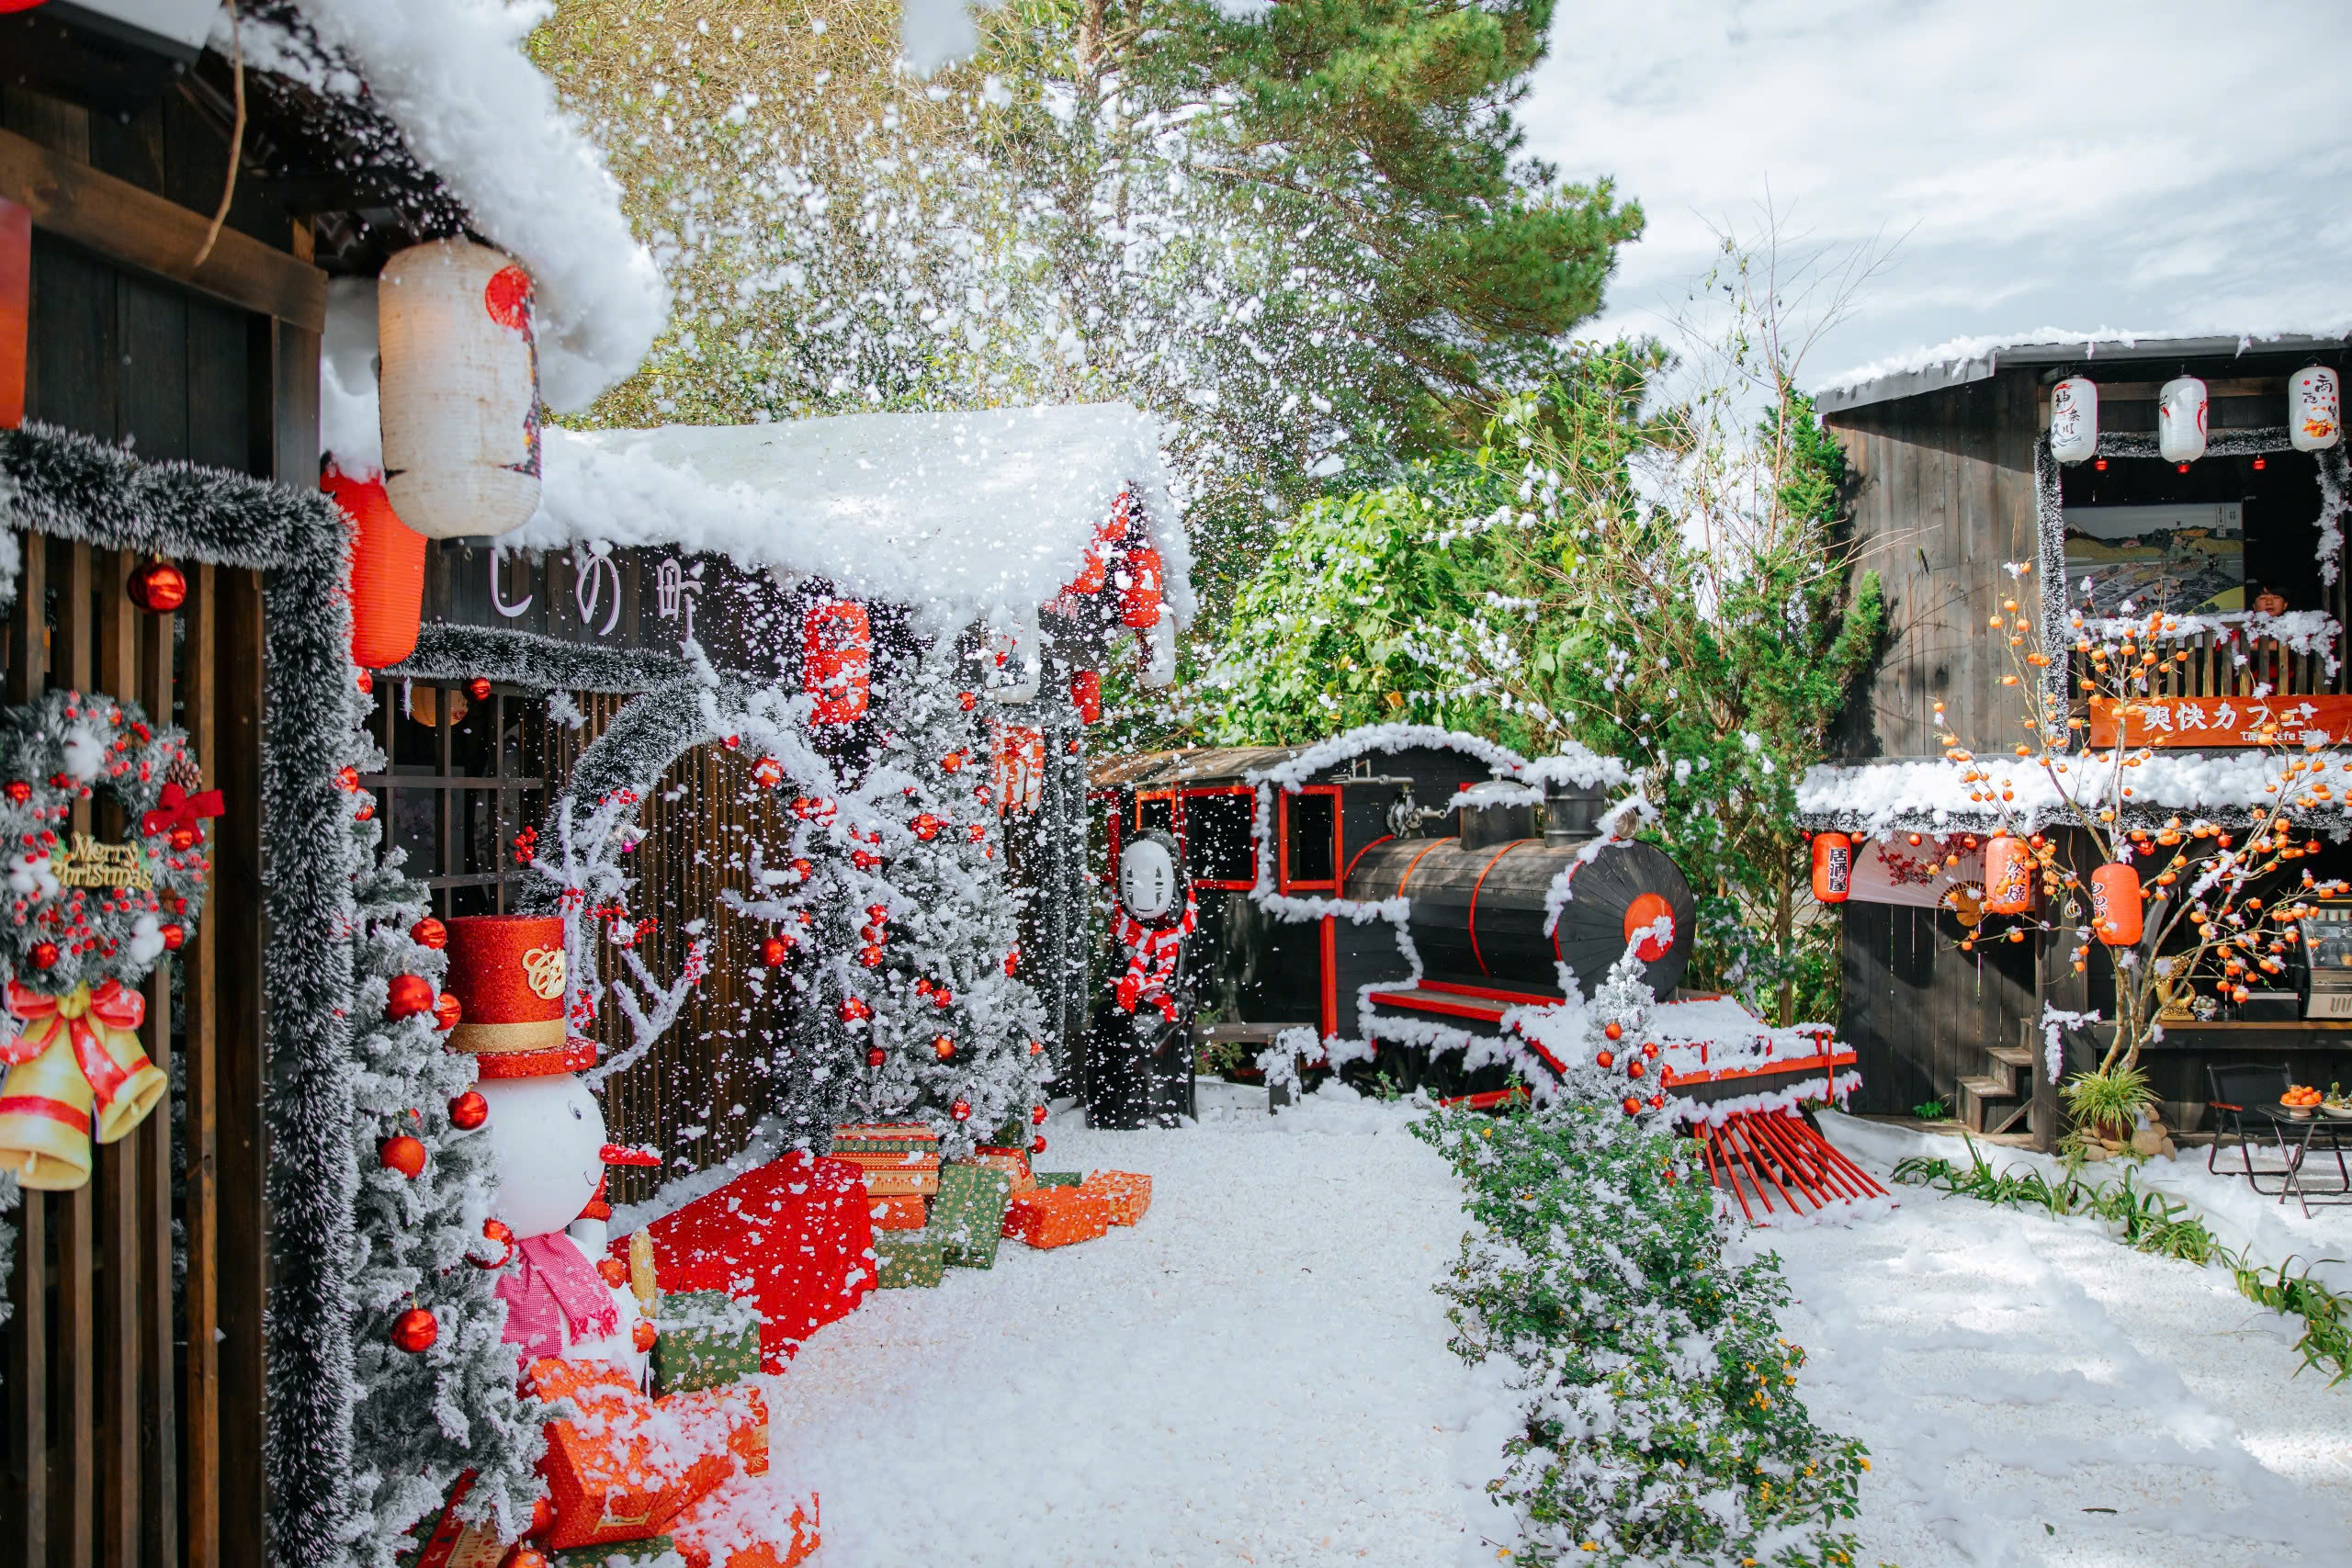
[[[1555,1105],[1416,1124],[1477,1222],[1439,1291],[1465,1361],[1517,1363],[1524,1427],[1489,1490],[1517,1563],[1844,1568],[1863,1446],[1795,1394],[1773,1258],[1724,1258],[1729,1220],[1693,1145]]]

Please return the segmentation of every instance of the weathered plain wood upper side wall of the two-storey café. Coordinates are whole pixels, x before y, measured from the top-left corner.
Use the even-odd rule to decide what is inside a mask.
[[[1964,745],[2009,745],[2016,693],[1985,618],[2013,592],[2004,562],[2039,557],[2034,371],[1830,414],[1851,468],[1860,567],[1886,595],[1877,668],[1835,738],[1839,757],[1943,750],[1933,705]]]

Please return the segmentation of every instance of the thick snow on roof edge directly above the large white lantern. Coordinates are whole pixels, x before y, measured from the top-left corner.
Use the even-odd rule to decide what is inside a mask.
[[[555,89],[522,54],[546,5],[494,0],[303,0],[322,42],[341,49],[367,96],[407,134],[482,235],[536,284],[539,381],[553,409],[583,409],[637,369],[670,313],[670,292],[621,216],[621,186]],[[254,35],[256,61],[296,63]],[[212,38],[230,49],[226,12]],[[348,73],[303,73],[355,96]]]

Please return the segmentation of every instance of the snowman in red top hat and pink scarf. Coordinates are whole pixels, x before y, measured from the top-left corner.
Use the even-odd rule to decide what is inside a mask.
[[[564,1025],[560,917],[473,914],[449,922],[449,990],[461,1023],[449,1046],[470,1051],[489,1103],[482,1131],[499,1168],[492,1218],[515,1237],[499,1279],[506,1340],[539,1356],[609,1361],[644,1380],[652,1324],[626,1276],[600,1269],[607,1237],[604,1166],[637,1164],[604,1135],[604,1112],[579,1072],[593,1039]]]

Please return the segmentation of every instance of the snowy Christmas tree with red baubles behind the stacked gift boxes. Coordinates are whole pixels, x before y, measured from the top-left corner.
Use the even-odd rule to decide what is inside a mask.
[[[847,971],[873,1009],[861,1100],[868,1117],[929,1121],[955,1157],[1042,1103],[1044,1016],[1014,973],[1018,910],[978,698],[934,658],[896,703],[901,726],[868,785],[896,802],[891,853],[849,867],[858,959]]]

